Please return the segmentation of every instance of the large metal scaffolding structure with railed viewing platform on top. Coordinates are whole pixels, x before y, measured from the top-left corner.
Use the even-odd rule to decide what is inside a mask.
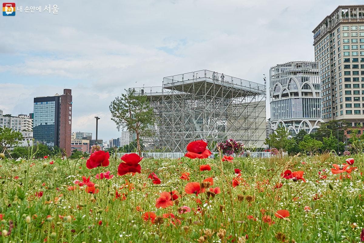
[[[131,88],[154,109],[155,137],[145,145],[183,152],[205,139],[214,150],[229,138],[262,148],[266,133],[266,87],[218,72],[200,70],[163,78],[162,86]]]

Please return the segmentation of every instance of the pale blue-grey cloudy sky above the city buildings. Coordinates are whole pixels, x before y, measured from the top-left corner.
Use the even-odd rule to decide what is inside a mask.
[[[23,12],[0,17],[0,109],[31,113],[66,87],[72,130],[94,135],[97,115],[99,138],[115,138],[108,106],[124,89],[202,69],[263,83],[277,63],[314,60],[312,30],[340,4],[360,1],[16,1]]]

